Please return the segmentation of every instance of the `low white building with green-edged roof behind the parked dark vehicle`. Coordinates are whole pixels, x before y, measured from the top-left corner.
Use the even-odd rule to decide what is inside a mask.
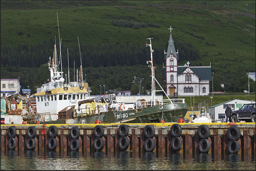
[[[248,100],[239,100],[234,99],[230,101],[225,101],[221,104],[214,105],[209,107],[209,113],[211,114],[211,118],[216,121],[218,119],[225,119],[225,110],[230,104],[232,111],[239,110],[244,104],[255,103],[255,101],[248,101]]]

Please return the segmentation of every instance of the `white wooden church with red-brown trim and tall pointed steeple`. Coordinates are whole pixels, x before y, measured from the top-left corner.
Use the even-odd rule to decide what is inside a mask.
[[[163,81],[166,81],[166,94],[173,96],[208,95],[210,93],[211,66],[189,66],[189,62],[178,66],[179,53],[174,48],[172,27],[167,52],[164,50],[165,67]]]

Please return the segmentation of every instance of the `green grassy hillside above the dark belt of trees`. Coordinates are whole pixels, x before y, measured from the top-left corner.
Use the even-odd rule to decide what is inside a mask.
[[[124,46],[127,42],[144,46],[147,37],[154,37],[152,48],[163,46],[167,50],[172,26],[174,40],[191,43],[202,56],[189,61],[191,66],[211,64],[214,76],[221,81],[239,68],[255,72],[255,1],[209,1],[208,9],[207,2],[1,1],[1,47],[39,44],[55,36],[58,44],[60,34],[62,45],[66,46],[78,46],[78,36],[80,45]],[[151,22],[159,27],[135,29],[113,25],[113,21],[120,20]],[[42,58],[49,56],[44,54]],[[186,62],[179,61],[179,65]]]

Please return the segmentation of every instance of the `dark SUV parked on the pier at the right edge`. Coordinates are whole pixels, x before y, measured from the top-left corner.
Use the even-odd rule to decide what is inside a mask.
[[[235,110],[231,114],[232,122],[250,120],[255,122],[255,103],[244,104],[239,110]]]

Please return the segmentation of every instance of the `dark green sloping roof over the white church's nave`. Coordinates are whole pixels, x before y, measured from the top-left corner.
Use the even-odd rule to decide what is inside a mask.
[[[178,67],[177,74],[181,75],[188,67]],[[201,80],[211,80],[211,67],[189,67]]]

